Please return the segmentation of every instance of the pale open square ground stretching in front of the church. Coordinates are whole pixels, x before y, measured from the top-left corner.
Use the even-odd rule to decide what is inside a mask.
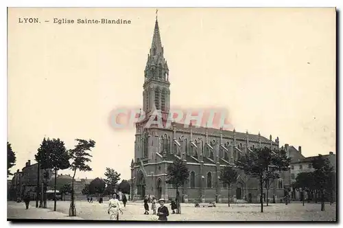
[[[78,217],[86,220],[109,220],[110,216],[107,214],[107,203],[88,203],[86,201],[77,201],[76,211]],[[34,206],[35,202],[31,203]],[[49,209],[36,209],[31,207],[27,212],[25,209],[18,211],[19,207],[24,208],[23,203],[8,202],[8,218],[23,218],[23,216],[29,216],[35,218],[45,218],[45,216],[55,216],[52,219],[67,219],[69,213],[69,201],[60,201],[57,203],[58,212],[63,214],[57,214],[56,212],[49,212],[54,208],[54,202],[48,201],[47,206]],[[171,212],[170,206],[169,212]],[[48,212],[38,213],[41,210]],[[301,203],[285,204],[272,204],[268,207],[264,207],[264,212],[260,212],[261,207],[257,204],[239,204],[231,205],[218,203],[217,207],[194,207],[192,203],[181,204],[182,214],[171,214],[168,217],[169,221],[312,221],[312,220],[324,220],[335,221],[335,204],[325,205],[325,211],[320,212],[320,204],[309,203],[303,206]],[[26,213],[23,214],[23,211]],[[32,211],[32,212],[29,212]],[[13,214],[14,213],[14,214]],[[18,214],[16,214],[18,213]],[[144,215],[143,203],[128,203],[123,208],[123,215],[120,216],[120,220],[156,220],[157,216],[151,214]],[[30,218],[31,218],[30,217]],[[25,217],[26,218],[26,217]],[[80,219],[79,218],[79,219]]]

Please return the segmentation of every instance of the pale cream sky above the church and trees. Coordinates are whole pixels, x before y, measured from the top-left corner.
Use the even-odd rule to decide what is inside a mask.
[[[41,23],[19,23],[19,18]],[[155,8],[10,8],[8,141],[15,172],[43,137],[96,141],[77,178],[106,167],[130,179],[134,128],[108,119],[143,106]],[[130,24],[54,24],[54,19],[125,19]],[[48,20],[49,22],[45,22]],[[171,108],[220,107],[240,132],[336,152],[334,8],[160,8]],[[60,173],[71,173],[63,170]]]

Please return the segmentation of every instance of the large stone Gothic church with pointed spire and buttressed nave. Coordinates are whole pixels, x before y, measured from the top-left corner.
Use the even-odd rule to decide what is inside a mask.
[[[261,193],[259,182],[250,178],[241,170],[237,183],[228,189],[220,182],[220,170],[224,166],[233,166],[235,160],[252,150],[267,146],[272,150],[279,147],[279,138],[274,141],[260,133],[252,135],[224,130],[193,126],[192,122],[166,124],[170,108],[169,68],[165,60],[164,49],[156,17],[152,45],[147,56],[144,70],[143,111],[145,118],[136,123],[134,141],[134,159],[131,162],[130,198],[141,200],[145,196],[165,198],[167,201],[176,198],[176,189],[167,183],[167,167],[176,159],[182,159],[189,169],[189,181],[179,187],[182,202],[217,203],[247,202],[259,203]],[[149,124],[154,113],[160,113],[163,126]],[[157,118],[157,117],[156,117]],[[290,189],[290,174],[283,172],[281,178],[270,186],[268,198],[282,202],[283,196]],[[230,191],[230,199],[228,198]],[[266,190],[263,190],[266,201]]]

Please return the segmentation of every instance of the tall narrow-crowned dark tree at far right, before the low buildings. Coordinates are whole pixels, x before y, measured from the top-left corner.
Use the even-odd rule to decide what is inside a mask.
[[[314,168],[314,181],[320,194],[320,210],[324,211],[324,197],[325,193],[327,192],[328,183],[333,175],[333,167],[330,165],[329,159],[322,157],[322,155],[319,155],[312,160],[312,167]]]

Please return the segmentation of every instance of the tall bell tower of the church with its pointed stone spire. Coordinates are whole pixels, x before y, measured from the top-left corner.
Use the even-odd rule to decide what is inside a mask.
[[[150,116],[155,110],[169,113],[169,69],[163,56],[158,20],[154,27],[150,53],[147,54],[147,63],[144,70],[143,84],[143,111]]]

